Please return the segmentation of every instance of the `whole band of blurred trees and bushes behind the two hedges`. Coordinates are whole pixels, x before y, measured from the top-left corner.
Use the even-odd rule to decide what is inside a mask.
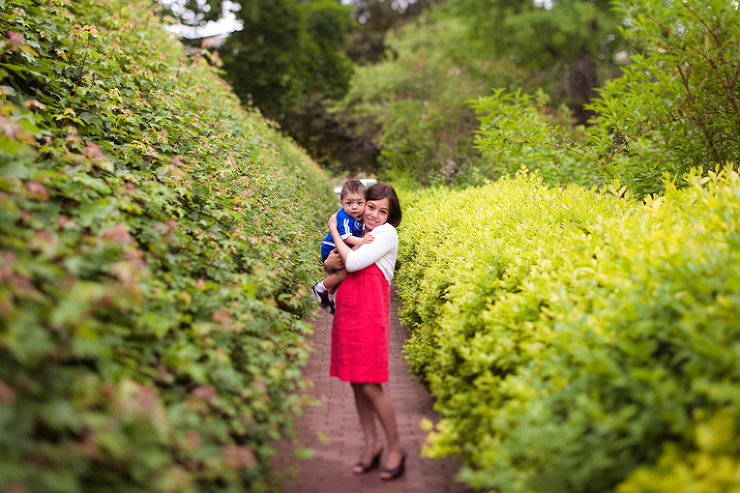
[[[337,177],[469,186],[522,166],[637,195],[737,161],[737,4],[182,2],[233,9],[225,77]],[[181,21],[183,15],[179,15]],[[192,40],[198,43],[200,40]]]

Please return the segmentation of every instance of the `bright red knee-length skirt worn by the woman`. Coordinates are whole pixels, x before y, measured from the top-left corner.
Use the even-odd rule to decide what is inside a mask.
[[[344,382],[385,383],[391,335],[391,288],[373,264],[350,272],[334,299],[331,376]]]

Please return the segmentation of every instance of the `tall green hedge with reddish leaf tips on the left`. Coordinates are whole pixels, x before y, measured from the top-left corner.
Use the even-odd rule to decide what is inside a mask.
[[[273,491],[299,411],[335,199],[152,5],[0,0],[2,491]]]

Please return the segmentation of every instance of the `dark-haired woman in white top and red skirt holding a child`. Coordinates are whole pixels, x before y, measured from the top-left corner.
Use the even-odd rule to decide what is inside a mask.
[[[357,250],[342,241],[336,217],[329,219],[337,250],[326,265],[337,269],[343,264],[349,272],[335,295],[331,375],[352,384],[365,438],[353,472],[364,474],[380,466],[383,446],[375,429],[377,415],[388,442],[380,478],[391,480],[404,473],[406,464],[393,405],[381,386],[388,381],[390,283],[398,255],[396,227],[401,223],[401,205],[393,187],[377,183],[368,188],[362,219],[364,234],[372,231],[375,239]]]

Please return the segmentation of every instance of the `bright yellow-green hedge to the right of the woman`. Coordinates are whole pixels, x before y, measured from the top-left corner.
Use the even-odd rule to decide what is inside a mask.
[[[432,456],[483,491],[740,488],[740,177],[643,202],[520,174],[406,197]]]

